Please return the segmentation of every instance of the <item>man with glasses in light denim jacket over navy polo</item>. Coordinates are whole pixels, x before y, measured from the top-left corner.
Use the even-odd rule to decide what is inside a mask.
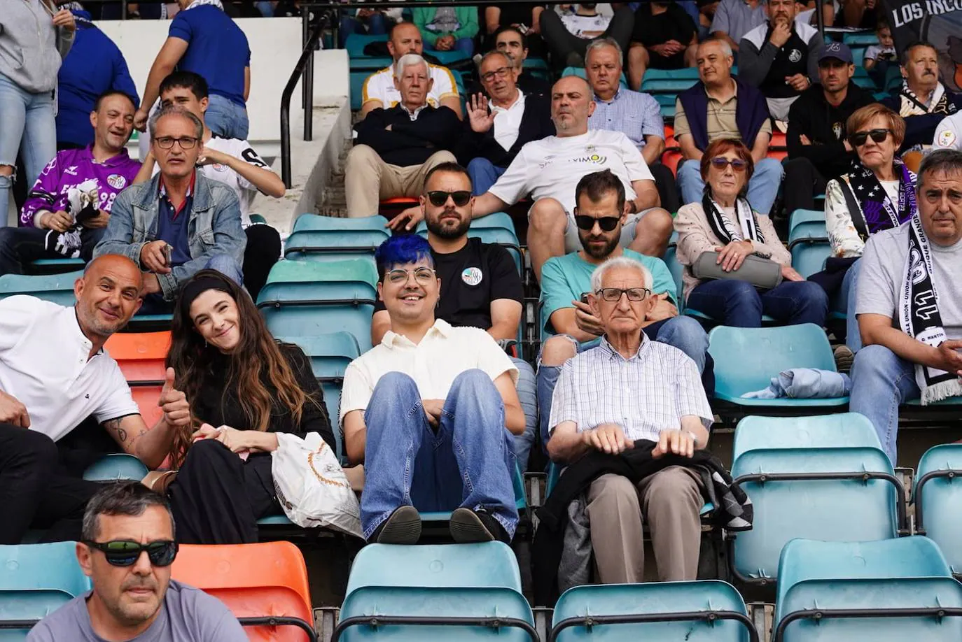
[[[196,171],[200,119],[170,105],[150,117],[150,134],[161,171],[117,196],[93,255],[119,254],[137,263],[143,271],[140,312],[161,314],[173,309],[180,284],[205,267],[243,283],[247,239],[234,191]]]

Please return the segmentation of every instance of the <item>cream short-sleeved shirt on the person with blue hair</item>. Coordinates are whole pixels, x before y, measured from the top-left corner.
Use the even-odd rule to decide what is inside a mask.
[[[480,328],[452,328],[438,319],[418,344],[388,331],[381,343],[351,361],[344,371],[341,425],[351,410],[367,409],[374,386],[389,372],[401,372],[415,380],[421,399],[447,399],[458,375],[475,368],[492,381],[507,372],[518,382],[518,368],[511,358]]]

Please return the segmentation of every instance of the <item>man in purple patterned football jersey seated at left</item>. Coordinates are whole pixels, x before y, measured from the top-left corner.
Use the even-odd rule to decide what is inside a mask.
[[[0,275],[22,274],[37,259],[89,260],[103,237],[114,199],[140,168],[124,145],[136,106],[110,90],[89,114],[93,143],[58,152],[40,172],[20,212],[20,228],[0,228]]]

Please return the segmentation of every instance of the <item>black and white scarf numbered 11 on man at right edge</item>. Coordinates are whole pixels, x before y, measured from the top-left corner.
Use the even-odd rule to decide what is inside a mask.
[[[902,332],[938,348],[946,340],[939,314],[939,293],[932,278],[932,255],[922,219],[916,214],[908,228],[908,255],[905,258],[905,278],[901,285],[899,325]],[[957,375],[925,365],[915,365],[915,381],[922,390],[922,405],[962,395],[962,383]]]

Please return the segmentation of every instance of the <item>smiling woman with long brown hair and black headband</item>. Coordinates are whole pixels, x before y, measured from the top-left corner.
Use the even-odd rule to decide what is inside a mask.
[[[181,288],[166,364],[194,420],[170,453],[178,541],[256,542],[257,520],[281,513],[270,472],[276,432],[317,432],[336,448],[310,361],[267,332],[238,284],[201,270]]]

